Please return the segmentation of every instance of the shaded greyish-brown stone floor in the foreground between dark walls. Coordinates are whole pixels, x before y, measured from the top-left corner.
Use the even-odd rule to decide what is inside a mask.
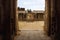
[[[42,30],[21,30],[15,40],[51,40]]]

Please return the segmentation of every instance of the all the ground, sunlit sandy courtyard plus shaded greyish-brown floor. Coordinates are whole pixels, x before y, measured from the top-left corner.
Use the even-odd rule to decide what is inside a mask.
[[[19,21],[19,35],[15,40],[51,40],[44,32],[44,21]]]

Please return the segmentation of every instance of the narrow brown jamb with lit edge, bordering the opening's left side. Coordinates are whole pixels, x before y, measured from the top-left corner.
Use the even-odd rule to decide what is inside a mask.
[[[18,9],[17,0],[11,0],[10,26],[12,35],[17,35],[18,32]]]

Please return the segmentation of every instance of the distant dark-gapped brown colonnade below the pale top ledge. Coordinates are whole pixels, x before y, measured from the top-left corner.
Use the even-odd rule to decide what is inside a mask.
[[[19,21],[43,21],[44,13],[19,13]]]

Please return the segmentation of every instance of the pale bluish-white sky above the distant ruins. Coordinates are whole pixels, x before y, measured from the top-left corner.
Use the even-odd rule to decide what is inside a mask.
[[[17,7],[31,10],[45,10],[45,0],[18,0]]]

